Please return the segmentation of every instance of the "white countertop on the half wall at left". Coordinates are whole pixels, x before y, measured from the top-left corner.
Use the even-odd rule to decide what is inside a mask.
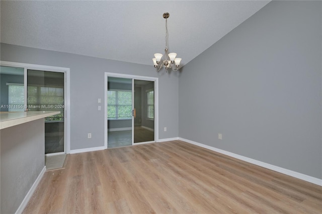
[[[59,114],[59,111],[0,112],[0,129]]]

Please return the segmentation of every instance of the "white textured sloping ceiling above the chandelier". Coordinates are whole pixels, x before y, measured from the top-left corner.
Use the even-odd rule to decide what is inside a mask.
[[[1,42],[152,65],[169,49],[182,65],[270,1],[1,1]]]

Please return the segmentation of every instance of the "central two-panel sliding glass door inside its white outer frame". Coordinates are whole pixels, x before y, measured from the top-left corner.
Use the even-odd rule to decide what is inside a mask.
[[[106,76],[106,146],[155,142],[155,81]]]

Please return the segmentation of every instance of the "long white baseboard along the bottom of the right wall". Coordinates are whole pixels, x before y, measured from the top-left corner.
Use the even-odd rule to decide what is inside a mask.
[[[239,159],[239,160],[243,160],[243,161],[246,161],[246,162],[249,162],[249,163],[264,167],[264,168],[267,168],[267,169],[271,169],[273,171],[280,172],[280,173],[283,173],[283,174],[286,174],[286,175],[289,175],[289,176],[292,176],[292,177],[295,177],[295,178],[298,178],[298,179],[301,179],[301,180],[305,180],[307,182],[314,183],[314,184],[317,184],[319,186],[322,186],[322,179],[318,179],[318,178],[315,178],[315,177],[312,177],[312,176],[309,176],[309,175],[305,175],[305,174],[302,174],[302,173],[299,173],[299,172],[295,172],[295,171],[292,171],[292,170],[289,170],[289,169],[285,169],[285,168],[282,168],[282,167],[279,167],[279,166],[274,166],[272,164],[261,162],[261,161],[258,161],[258,160],[252,159],[252,158],[248,158],[248,157],[245,157],[245,156],[237,155],[237,154],[234,154],[234,153],[231,153],[231,152],[227,152],[225,150],[217,149],[215,147],[211,147],[211,146],[208,146],[208,145],[197,143],[197,142],[187,140],[187,139],[184,139],[184,138],[179,138],[179,140],[185,141],[187,143],[194,144],[196,146],[200,146],[200,147],[203,147],[203,148],[206,148],[206,149],[209,149],[209,150],[212,150],[212,151],[215,151],[215,152],[218,152],[218,153],[221,153],[221,154],[224,154],[224,155],[227,155],[227,156]]]

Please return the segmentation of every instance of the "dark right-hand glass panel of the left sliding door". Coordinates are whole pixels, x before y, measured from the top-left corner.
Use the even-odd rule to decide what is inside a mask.
[[[45,118],[45,154],[65,153],[63,72],[27,70],[27,111],[59,111]]]

